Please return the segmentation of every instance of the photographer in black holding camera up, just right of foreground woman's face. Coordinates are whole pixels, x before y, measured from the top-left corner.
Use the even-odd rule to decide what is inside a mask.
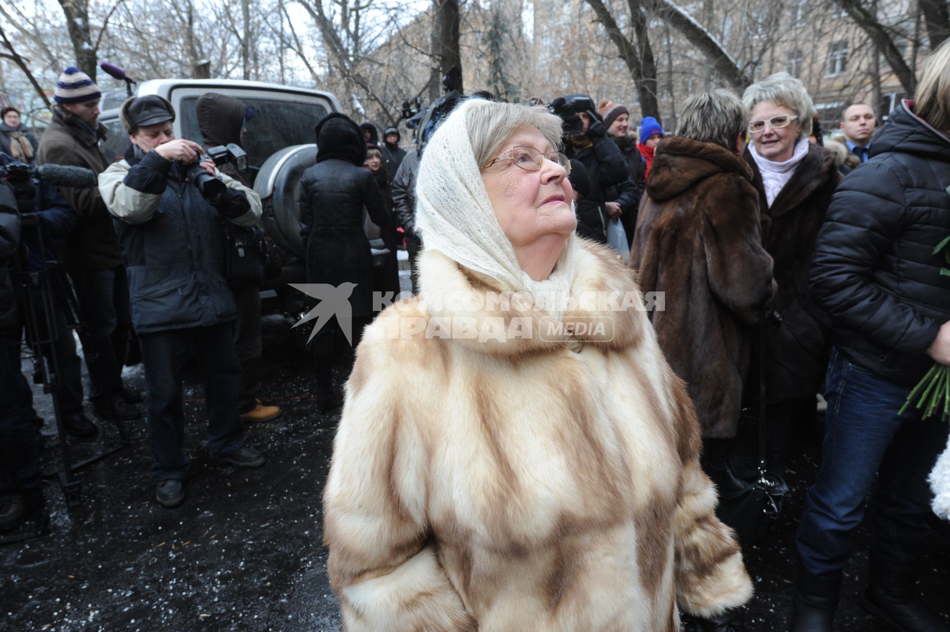
[[[594,101],[585,94],[570,94],[551,102],[551,110],[564,121],[564,151],[583,163],[591,181],[586,200],[594,210],[578,214],[578,235],[604,243],[606,220],[614,218],[621,218],[624,227],[629,223],[632,229],[639,206],[637,185],[630,179],[623,154],[607,135]],[[627,239],[629,242],[631,236]]]

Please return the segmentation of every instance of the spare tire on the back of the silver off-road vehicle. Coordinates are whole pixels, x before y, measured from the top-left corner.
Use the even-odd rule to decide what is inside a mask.
[[[284,147],[257,172],[254,190],[264,204],[264,229],[286,254],[306,256],[300,237],[300,179],[316,164],[315,144]]]

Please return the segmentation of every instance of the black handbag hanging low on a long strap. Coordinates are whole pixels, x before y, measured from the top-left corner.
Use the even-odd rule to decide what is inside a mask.
[[[782,514],[782,501],[788,493],[788,484],[778,474],[769,472],[768,413],[766,411],[766,311],[759,320],[759,406],[745,411],[747,420],[758,417],[758,454],[752,475],[747,475],[741,463],[743,455],[730,455],[719,481],[719,506],[716,515],[735,530],[739,540],[746,544],[758,542],[769,532],[769,527]],[[748,469],[746,469],[748,471]]]

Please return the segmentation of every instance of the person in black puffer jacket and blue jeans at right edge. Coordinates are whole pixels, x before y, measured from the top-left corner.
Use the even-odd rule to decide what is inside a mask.
[[[815,245],[811,290],[833,318],[833,346],[822,466],[796,536],[793,632],[833,629],[848,536],[875,481],[864,607],[900,630],[950,630],[915,584],[930,531],[926,478],[947,424],[898,413],[935,360],[950,365],[950,279],[933,252],[950,236],[950,120],[938,123],[939,111],[908,101],[894,110],[871,159],[838,187]]]

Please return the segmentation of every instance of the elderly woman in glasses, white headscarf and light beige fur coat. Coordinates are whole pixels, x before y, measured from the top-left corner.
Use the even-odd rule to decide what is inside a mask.
[[[637,285],[574,236],[560,141],[473,99],[423,154],[422,292],[360,343],[324,493],[347,630],[675,632],[750,598]]]

